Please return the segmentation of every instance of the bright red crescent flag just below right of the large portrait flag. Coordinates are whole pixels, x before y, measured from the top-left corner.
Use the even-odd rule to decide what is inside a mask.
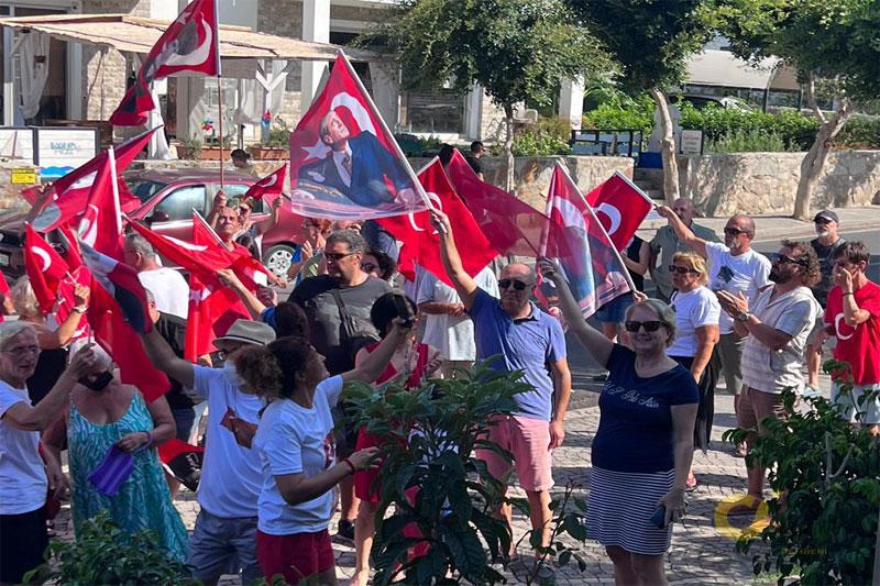
[[[455,194],[439,158],[435,158],[425,167],[418,178],[433,204],[449,217],[455,246],[464,253],[461,255],[464,270],[472,277],[475,276],[498,255],[498,252],[492,247],[490,241],[480,231],[474,217]],[[400,273],[405,277],[415,280],[413,263],[416,262],[452,287],[452,281],[443,269],[443,262],[440,257],[440,239],[430,224],[430,213],[422,211],[394,218],[382,218],[376,221],[394,237],[403,241],[399,265],[404,267]],[[409,275],[407,272],[410,270],[407,267],[413,267]]]

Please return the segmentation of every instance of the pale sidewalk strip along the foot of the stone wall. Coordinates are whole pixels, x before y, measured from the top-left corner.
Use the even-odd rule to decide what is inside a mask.
[[[842,231],[853,232],[858,230],[880,230],[880,206],[868,206],[864,208],[837,208],[835,213],[840,218]],[[821,210],[815,210],[818,212]],[[779,240],[783,237],[815,237],[813,222],[801,222],[788,215],[755,215],[755,240]],[[727,224],[728,217],[724,218],[696,218],[694,221],[700,225],[705,225],[715,231],[721,236]],[[650,240],[654,232],[667,225],[667,220],[651,212],[641,223],[638,231],[639,237]]]

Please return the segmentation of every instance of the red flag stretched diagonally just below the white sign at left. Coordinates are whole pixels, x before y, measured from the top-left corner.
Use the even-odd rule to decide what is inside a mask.
[[[152,136],[156,130],[157,129],[148,130],[114,148],[113,155],[117,162],[117,175],[122,173],[125,167],[134,161],[134,157],[144,150],[150,142],[150,136]],[[81,167],[72,170],[55,181],[51,187],[51,189],[54,190],[54,194],[50,196],[52,203],[48,203],[40,215],[34,219],[34,230],[45,233],[70,220],[80,218],[86,210],[86,203],[88,202],[95,179],[98,177],[98,172],[106,166],[109,156],[109,150],[103,151]],[[124,184],[124,179],[120,177],[117,183]],[[125,213],[136,210],[142,204],[141,200],[134,197],[131,191],[129,191],[128,187],[119,189],[119,195],[120,209]]]

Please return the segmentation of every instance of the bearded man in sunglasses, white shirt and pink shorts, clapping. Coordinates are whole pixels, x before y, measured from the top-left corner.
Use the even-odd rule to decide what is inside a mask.
[[[806,339],[822,311],[810,287],[820,279],[818,258],[806,242],[782,241],[770,269],[772,287],[762,290],[754,302],[740,291],[719,291],[722,308],[735,320],[736,332],[746,338],[743,353],[743,395],[737,425],[762,433],[766,417],[782,419],[782,390],[801,392]],[[751,449],[752,438],[747,440]],[[750,504],[736,513],[757,510],[763,495],[765,468],[747,466]],[[734,512],[734,511],[732,511]]]

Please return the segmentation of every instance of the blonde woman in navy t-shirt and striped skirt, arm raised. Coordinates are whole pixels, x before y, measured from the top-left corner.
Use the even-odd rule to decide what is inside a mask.
[[[685,512],[700,401],[693,375],[667,355],[675,316],[638,295],[624,322],[630,350],[586,323],[556,263],[538,264],[557,286],[569,331],[608,369],[593,440],[587,534],[605,545],[616,584],[666,584],[663,554],[671,523]]]

